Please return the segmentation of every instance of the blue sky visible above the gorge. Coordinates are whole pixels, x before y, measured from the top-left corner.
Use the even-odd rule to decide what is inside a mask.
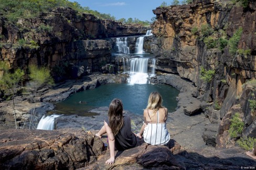
[[[137,18],[151,21],[155,17],[152,10],[160,6],[164,1],[157,0],[69,0],[78,2],[81,6],[88,6],[100,13],[111,14],[116,19]]]

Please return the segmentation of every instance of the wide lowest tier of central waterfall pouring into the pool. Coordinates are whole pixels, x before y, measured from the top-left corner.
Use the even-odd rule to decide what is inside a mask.
[[[155,59],[150,58],[133,58],[129,59],[130,79],[131,84],[146,84],[148,83],[148,62],[152,63],[151,72],[155,73]]]

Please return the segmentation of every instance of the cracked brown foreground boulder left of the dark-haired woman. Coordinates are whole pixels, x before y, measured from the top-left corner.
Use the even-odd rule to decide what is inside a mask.
[[[95,162],[104,143],[81,130],[1,131],[1,169],[77,169]]]

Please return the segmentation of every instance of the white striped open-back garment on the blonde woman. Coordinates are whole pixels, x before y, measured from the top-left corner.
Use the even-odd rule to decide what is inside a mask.
[[[147,144],[163,145],[169,142],[170,135],[166,129],[166,123],[158,123],[159,115],[157,110],[157,123],[147,123],[144,128],[143,138]]]

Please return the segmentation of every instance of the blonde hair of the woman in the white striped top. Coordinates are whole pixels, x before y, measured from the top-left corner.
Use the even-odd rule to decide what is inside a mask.
[[[163,108],[162,103],[162,96],[158,92],[152,92],[150,97],[148,97],[146,109],[154,110],[154,112],[156,112],[159,108]]]

